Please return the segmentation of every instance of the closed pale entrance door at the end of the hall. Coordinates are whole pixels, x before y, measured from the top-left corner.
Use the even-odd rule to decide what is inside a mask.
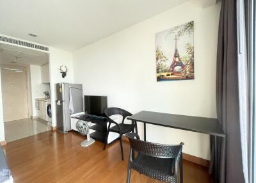
[[[19,69],[22,72],[17,72]],[[28,118],[28,87],[26,67],[1,65],[4,122]]]

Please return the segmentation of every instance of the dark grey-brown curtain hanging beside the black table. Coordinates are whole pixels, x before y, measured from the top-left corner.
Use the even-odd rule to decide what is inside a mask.
[[[237,0],[238,1],[238,0]],[[211,137],[210,173],[215,182],[244,183],[239,120],[236,0],[223,0],[218,31],[216,104],[225,138]]]

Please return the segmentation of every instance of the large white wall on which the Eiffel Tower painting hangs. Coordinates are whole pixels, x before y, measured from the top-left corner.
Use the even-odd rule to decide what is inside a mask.
[[[193,0],[74,52],[74,82],[86,95],[108,95],[109,107],[216,117],[216,49],[220,4]],[[195,80],[156,82],[155,34],[193,20]],[[139,126],[140,135],[142,125]],[[183,141],[184,152],[210,159],[209,136],[147,126],[147,140]]]

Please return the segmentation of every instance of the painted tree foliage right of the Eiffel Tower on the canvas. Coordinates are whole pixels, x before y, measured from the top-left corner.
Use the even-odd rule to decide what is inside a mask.
[[[191,44],[186,44],[186,54],[182,57],[185,67],[183,68],[183,74],[189,76],[194,73],[194,47]]]

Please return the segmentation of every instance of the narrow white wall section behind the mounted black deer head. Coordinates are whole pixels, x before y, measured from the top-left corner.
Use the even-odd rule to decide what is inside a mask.
[[[52,127],[56,126],[56,83],[73,83],[73,57],[72,52],[62,51],[53,47],[49,48],[49,66],[50,66],[50,81],[51,81],[51,103],[52,103]],[[61,77],[61,65],[68,67],[67,76]]]

